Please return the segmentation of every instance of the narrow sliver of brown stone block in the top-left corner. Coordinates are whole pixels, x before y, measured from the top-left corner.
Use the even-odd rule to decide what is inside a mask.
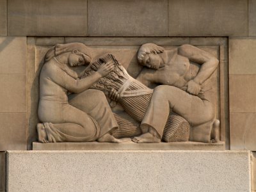
[[[7,0],[0,0],[0,36],[7,35]]]

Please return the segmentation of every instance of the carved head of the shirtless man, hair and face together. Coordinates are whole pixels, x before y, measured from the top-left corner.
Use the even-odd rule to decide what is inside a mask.
[[[156,44],[143,44],[137,53],[138,63],[157,70],[161,63],[159,54],[162,52],[164,52],[164,48]]]

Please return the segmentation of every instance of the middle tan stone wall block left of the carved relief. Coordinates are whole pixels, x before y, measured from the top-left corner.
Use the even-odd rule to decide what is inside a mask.
[[[0,74],[0,112],[26,112],[26,75]]]

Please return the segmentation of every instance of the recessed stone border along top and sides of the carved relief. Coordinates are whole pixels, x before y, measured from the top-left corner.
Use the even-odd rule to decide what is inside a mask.
[[[90,47],[139,47],[152,42],[162,46],[191,44],[204,49],[214,47],[218,51],[218,114],[221,122],[221,140],[225,148],[230,148],[229,105],[228,105],[228,38],[225,37],[28,37],[27,50],[27,103],[28,103],[28,149],[36,141],[37,105],[38,105],[38,67],[42,55],[55,44],[81,42]],[[129,72],[129,70],[128,70]],[[136,76],[136,74],[134,74]],[[213,144],[212,144],[213,145]]]

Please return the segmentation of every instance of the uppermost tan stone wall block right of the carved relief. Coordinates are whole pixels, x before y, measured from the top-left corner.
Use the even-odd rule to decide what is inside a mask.
[[[229,74],[256,74],[256,37],[229,38]]]

